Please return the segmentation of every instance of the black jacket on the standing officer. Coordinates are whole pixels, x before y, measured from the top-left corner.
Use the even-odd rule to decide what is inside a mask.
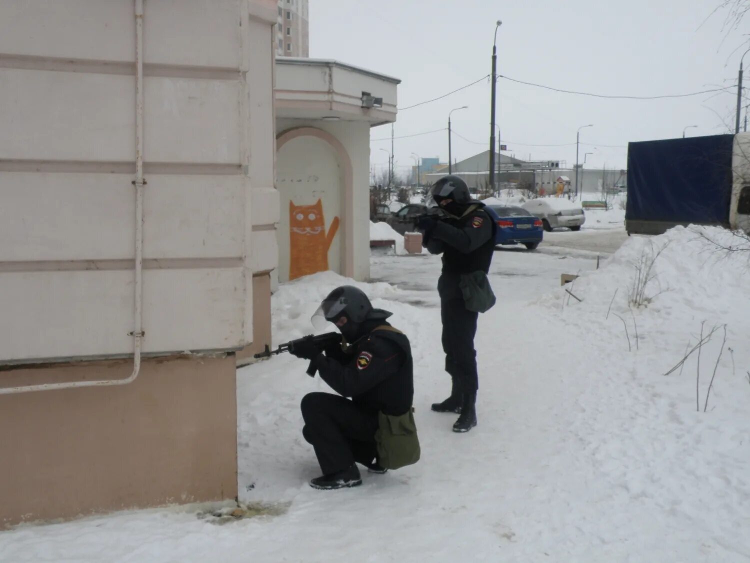
[[[460,274],[490,271],[495,227],[483,204],[472,207],[463,217],[441,219],[423,238],[423,245],[431,254],[443,254],[443,275],[438,283],[443,297],[458,292]]]

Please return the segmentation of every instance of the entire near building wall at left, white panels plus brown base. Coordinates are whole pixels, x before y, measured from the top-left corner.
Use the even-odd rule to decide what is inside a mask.
[[[276,2],[179,4],[144,2],[148,357],[0,394],[0,526],[236,496],[217,351],[270,342]],[[0,5],[0,389],[133,370],[133,5]]]

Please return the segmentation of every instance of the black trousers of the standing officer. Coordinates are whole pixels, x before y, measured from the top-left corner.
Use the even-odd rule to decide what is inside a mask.
[[[458,381],[462,393],[476,393],[479,383],[474,336],[479,314],[466,309],[462,297],[444,297],[440,300],[440,317],[446,372]]]

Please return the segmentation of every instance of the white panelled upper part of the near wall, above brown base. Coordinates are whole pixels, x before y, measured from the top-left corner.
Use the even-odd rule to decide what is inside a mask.
[[[0,362],[128,354],[133,2],[38,6],[0,7]],[[251,224],[253,203],[275,215],[253,192],[273,191],[271,24],[241,28],[245,0],[172,8],[145,2],[144,351],[242,348],[252,273],[275,265]]]

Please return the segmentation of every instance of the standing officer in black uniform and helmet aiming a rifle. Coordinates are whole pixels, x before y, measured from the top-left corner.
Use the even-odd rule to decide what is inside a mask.
[[[422,244],[428,251],[443,254],[437,290],[446,372],[453,382],[451,396],[432,405],[432,410],[460,413],[453,430],[468,432],[476,426],[478,375],[474,336],[478,313],[466,308],[460,286],[462,276],[489,272],[496,227],[484,211],[484,203],[471,199],[466,182],[458,176],[444,176],[435,182],[432,196],[441,213],[422,216],[417,228],[423,233]]]

